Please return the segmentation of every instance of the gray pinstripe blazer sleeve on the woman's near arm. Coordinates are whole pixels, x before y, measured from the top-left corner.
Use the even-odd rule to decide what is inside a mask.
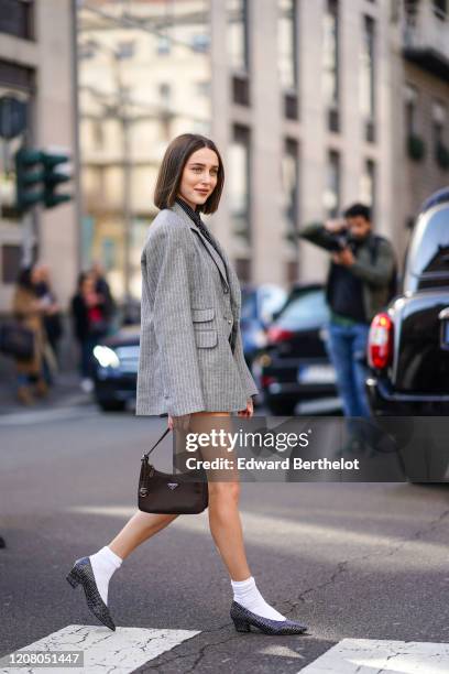
[[[154,333],[171,416],[205,409],[191,320],[187,246],[184,232],[175,227],[161,228],[145,246]]]

